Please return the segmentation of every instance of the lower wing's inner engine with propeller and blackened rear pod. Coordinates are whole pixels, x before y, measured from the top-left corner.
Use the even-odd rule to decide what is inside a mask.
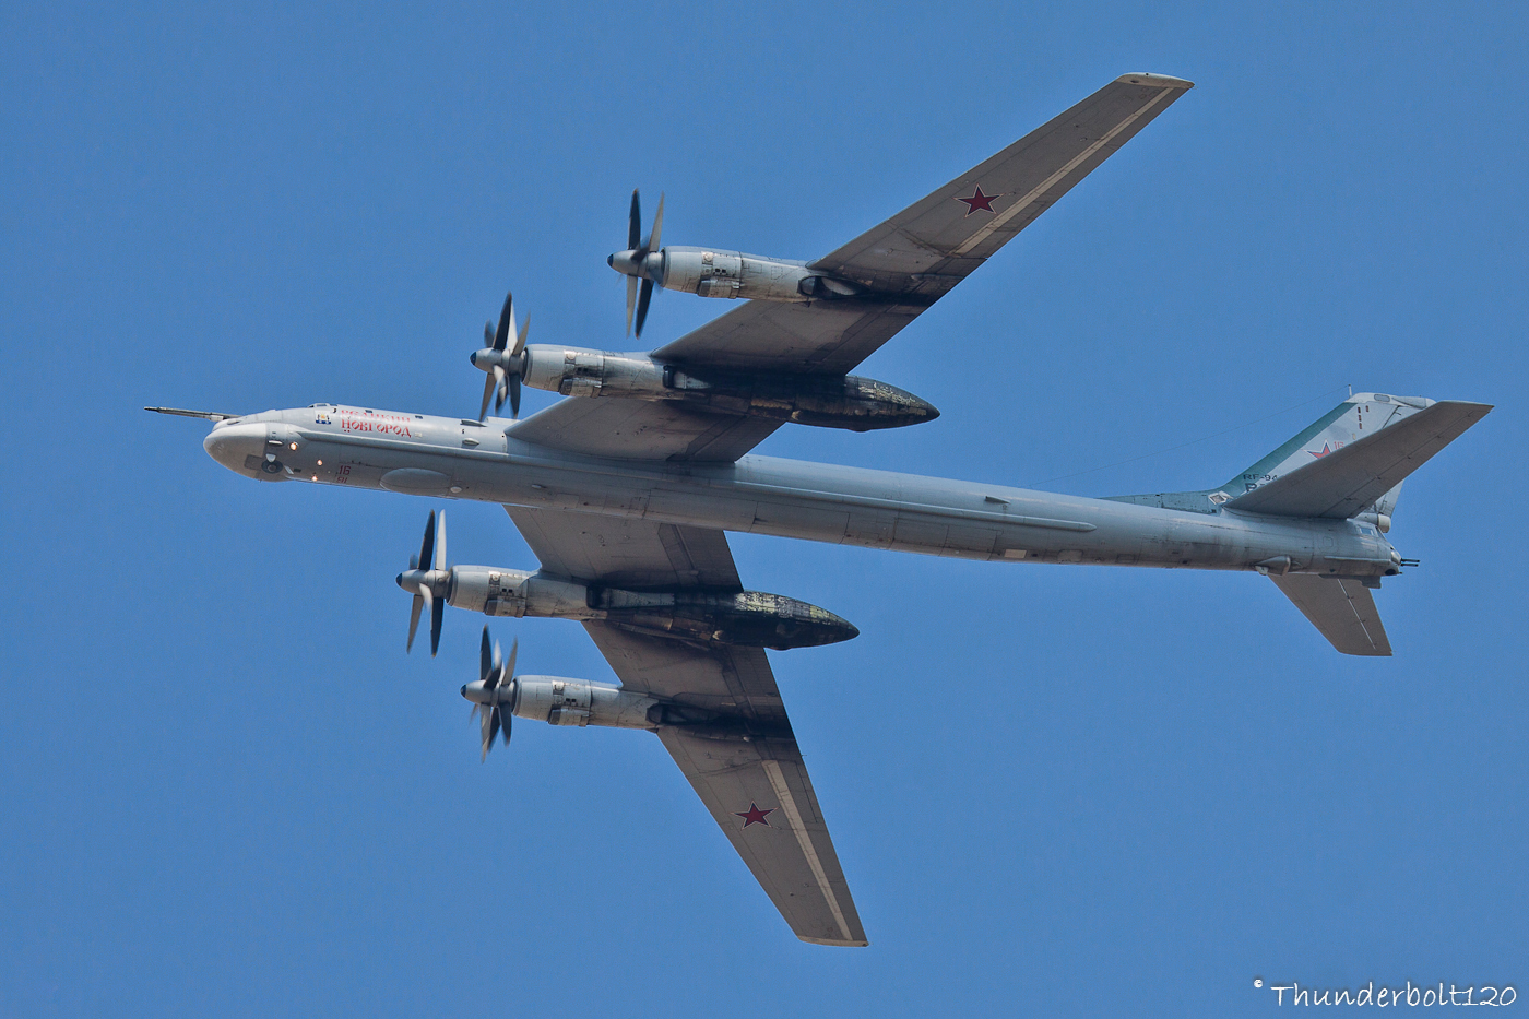
[[[628,591],[583,584],[524,569],[445,566],[445,514],[430,514],[425,548],[398,584],[414,592],[410,644],[431,607],[431,647],[440,643],[445,604],[485,615],[605,623],[635,633],[740,647],[818,647],[859,636],[852,623],[798,598],[763,591]],[[427,569],[420,569],[427,565]]]

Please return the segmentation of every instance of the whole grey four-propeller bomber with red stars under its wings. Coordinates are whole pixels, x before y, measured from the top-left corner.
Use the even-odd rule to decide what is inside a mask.
[[[621,685],[517,676],[515,652],[505,663],[485,627],[479,679],[462,689],[483,715],[483,756],[497,734],[508,742],[515,716],[653,731],[792,932],[865,946],[766,656],[858,630],[746,589],[726,531],[988,562],[1255,572],[1336,650],[1390,655],[1372,591],[1416,565],[1384,537],[1399,487],[1491,410],[1352,395],[1222,485],[1107,499],[752,453],[786,422],[864,431],[933,419],[917,396],[849,372],[1191,87],[1124,75],[838,251],[755,260],[786,282],[757,292],[732,280],[749,300],[651,352],[528,344],[506,297],[472,355],[486,373],[476,419],[336,404],[148,410],[213,421],[208,454],[255,480],[502,503],[538,568],[450,565],[445,513],[431,511],[398,575],[413,594],[408,646],[428,614],[436,653],[448,604],[576,620]],[[630,246],[610,262],[628,280],[639,268],[651,297],[688,251],[657,248],[662,216],[642,242],[638,219],[635,200]],[[521,383],[567,399],[518,419]],[[508,399],[512,418],[489,418],[491,398],[495,413]]]

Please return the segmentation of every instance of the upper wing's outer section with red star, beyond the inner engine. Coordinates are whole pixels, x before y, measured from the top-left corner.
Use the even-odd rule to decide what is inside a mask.
[[[842,373],[1024,230],[1193,84],[1125,75],[809,268],[873,298],[749,301],[659,347],[677,364]]]

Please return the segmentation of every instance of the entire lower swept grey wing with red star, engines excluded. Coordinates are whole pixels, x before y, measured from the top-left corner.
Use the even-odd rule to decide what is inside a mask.
[[[584,583],[742,589],[722,531],[505,510],[550,574]],[[726,725],[661,725],[659,739],[792,932],[816,944],[867,944],[764,652],[605,623],[584,629],[622,689],[728,719]]]

